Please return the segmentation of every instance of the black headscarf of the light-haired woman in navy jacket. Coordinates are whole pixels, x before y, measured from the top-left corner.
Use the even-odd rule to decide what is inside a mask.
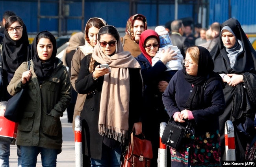
[[[214,63],[210,52],[202,46],[196,47],[199,49],[197,76],[187,74],[185,67],[182,70],[185,80],[194,85],[192,93],[186,103],[186,108],[189,110],[196,110],[204,106],[204,88],[206,84],[214,79],[221,81],[221,77],[213,72]]]

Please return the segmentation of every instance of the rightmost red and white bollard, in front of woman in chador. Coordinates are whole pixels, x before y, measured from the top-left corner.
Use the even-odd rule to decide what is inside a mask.
[[[236,160],[235,132],[232,121],[228,120],[225,123],[225,147],[226,161]]]

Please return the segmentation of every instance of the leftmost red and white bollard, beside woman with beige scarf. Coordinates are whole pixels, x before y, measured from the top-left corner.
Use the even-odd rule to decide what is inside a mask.
[[[82,150],[82,120],[80,116],[75,117],[75,154],[76,167],[83,167],[83,150]]]

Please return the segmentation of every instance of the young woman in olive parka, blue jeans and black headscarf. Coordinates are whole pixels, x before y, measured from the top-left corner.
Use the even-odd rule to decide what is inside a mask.
[[[48,31],[37,34],[32,43],[31,67],[23,62],[7,86],[15,95],[27,86],[21,121],[18,124],[17,145],[20,145],[22,167],[35,167],[41,153],[43,166],[56,166],[61,152],[60,117],[71,100],[69,74],[56,58],[54,35]]]

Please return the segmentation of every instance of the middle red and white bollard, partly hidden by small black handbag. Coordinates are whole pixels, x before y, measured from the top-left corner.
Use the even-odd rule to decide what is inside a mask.
[[[161,138],[163,136],[163,131],[165,130],[166,122],[160,123],[160,147],[158,149],[158,167],[166,167],[167,166],[167,146],[161,142]]]

